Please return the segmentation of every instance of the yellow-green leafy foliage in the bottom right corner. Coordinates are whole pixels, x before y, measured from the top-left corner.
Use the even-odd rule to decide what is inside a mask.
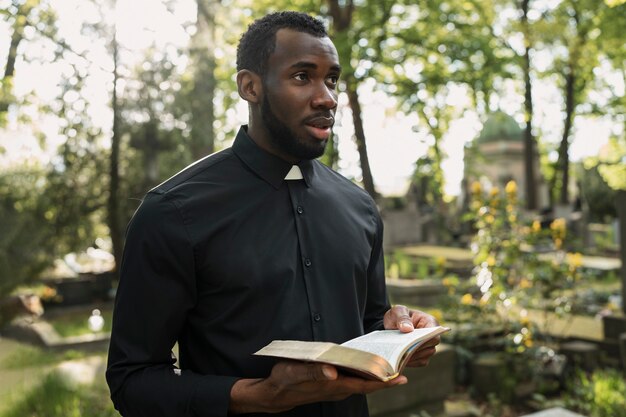
[[[565,404],[591,417],[626,417],[626,379],[615,369],[591,375],[580,371],[569,385]]]

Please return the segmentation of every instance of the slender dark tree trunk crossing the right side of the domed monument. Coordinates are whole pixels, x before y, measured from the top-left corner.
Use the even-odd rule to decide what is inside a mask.
[[[537,209],[537,184],[535,172],[535,138],[533,137],[533,98],[532,84],[530,81],[530,31],[528,28],[528,8],[530,0],[522,0],[522,30],[524,32],[524,108],[526,129],[524,130],[524,173],[526,180],[526,208],[528,210]]]

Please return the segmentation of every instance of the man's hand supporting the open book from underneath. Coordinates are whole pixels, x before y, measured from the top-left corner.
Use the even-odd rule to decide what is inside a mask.
[[[229,412],[277,413],[298,405],[339,401],[353,394],[368,394],[406,382],[404,376],[387,382],[370,381],[340,375],[330,365],[283,361],[274,365],[268,378],[235,382],[230,392]]]

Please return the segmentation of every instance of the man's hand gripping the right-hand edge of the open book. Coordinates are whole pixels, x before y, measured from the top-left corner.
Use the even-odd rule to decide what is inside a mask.
[[[398,329],[403,333],[412,332],[413,329],[438,326],[437,320],[428,313],[419,310],[409,310],[402,305],[393,306],[385,313],[384,326],[387,330]],[[407,366],[426,366],[428,361],[437,351],[436,347],[441,338],[439,336],[430,339],[420,346],[409,359]]]

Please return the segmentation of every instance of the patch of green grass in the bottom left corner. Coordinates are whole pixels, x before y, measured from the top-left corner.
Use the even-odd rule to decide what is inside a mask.
[[[14,400],[0,417],[119,417],[103,382],[73,387],[52,372],[23,396]]]

